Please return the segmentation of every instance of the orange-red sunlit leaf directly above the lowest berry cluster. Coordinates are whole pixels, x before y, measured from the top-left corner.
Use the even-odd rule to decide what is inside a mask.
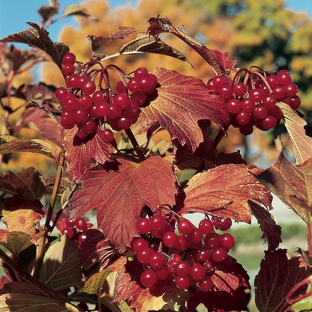
[[[210,212],[213,215],[250,223],[249,199],[272,208],[270,191],[253,176],[262,171],[253,165],[225,164],[198,173],[190,179],[184,189],[184,206],[182,198],[184,194],[180,197],[181,211]]]

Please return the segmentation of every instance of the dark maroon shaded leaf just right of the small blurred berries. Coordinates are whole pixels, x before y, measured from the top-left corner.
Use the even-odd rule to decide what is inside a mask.
[[[89,229],[85,233],[85,240],[81,243],[81,249],[79,250],[79,257],[81,260],[81,266],[87,270],[92,266],[96,259],[96,245],[104,240],[104,234],[96,229]]]

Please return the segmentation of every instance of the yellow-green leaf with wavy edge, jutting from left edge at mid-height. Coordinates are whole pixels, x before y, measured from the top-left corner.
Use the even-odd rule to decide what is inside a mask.
[[[52,159],[57,159],[56,148],[40,139],[22,141],[12,135],[0,136],[0,154],[13,152],[31,152],[46,155]]]

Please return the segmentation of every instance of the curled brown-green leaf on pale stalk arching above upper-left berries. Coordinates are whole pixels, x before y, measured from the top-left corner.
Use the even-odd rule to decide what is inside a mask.
[[[192,66],[192,64],[187,60],[187,58],[177,49],[174,49],[173,47],[168,46],[158,37],[155,37],[150,34],[143,33],[143,32],[140,32],[135,39],[124,44],[121,47],[119,52],[114,53],[112,55],[105,55],[105,54],[96,55],[94,56],[93,60],[101,62],[113,56],[115,57],[119,55],[140,54],[140,53],[155,53],[155,54],[171,56],[178,60],[184,61],[188,65]]]

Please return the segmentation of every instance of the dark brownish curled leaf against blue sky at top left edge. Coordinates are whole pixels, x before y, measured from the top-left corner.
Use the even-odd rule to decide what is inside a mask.
[[[45,52],[61,68],[62,57],[66,52],[69,52],[68,46],[61,42],[53,43],[49,37],[49,32],[40,28],[36,23],[28,22],[27,24],[32,28],[2,38],[0,42],[26,43]]]

